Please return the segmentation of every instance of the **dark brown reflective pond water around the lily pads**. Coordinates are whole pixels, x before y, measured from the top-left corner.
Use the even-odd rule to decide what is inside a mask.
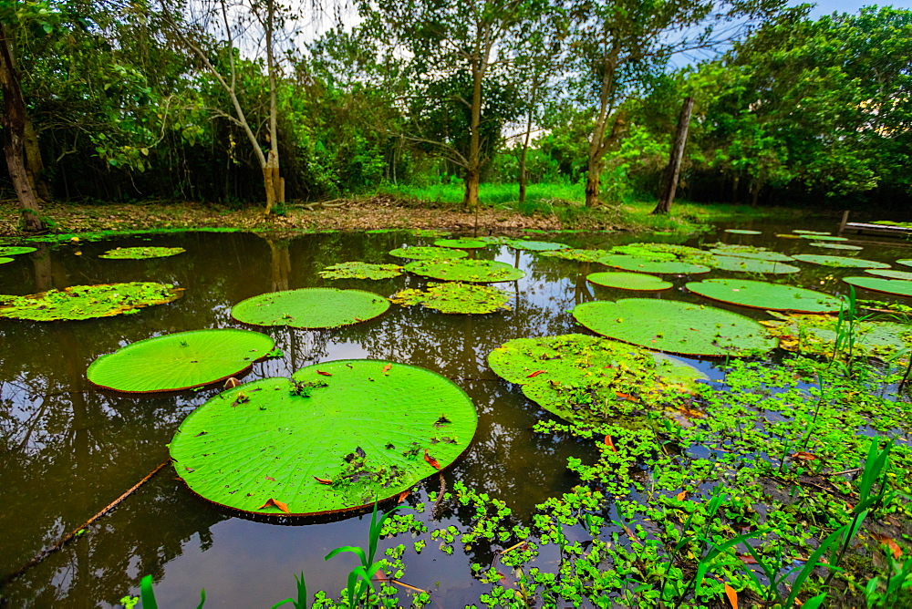
[[[802,228],[833,230],[834,222],[802,222]],[[893,263],[912,257],[912,246],[899,240],[853,237],[865,247],[859,253],[812,247],[808,240],[776,237],[795,226],[763,224],[762,235],[722,232],[682,240],[633,233],[532,235],[574,247],[606,248],[623,243],[656,241],[708,245],[717,241],[764,245],[782,253],[857,255]],[[33,294],[77,284],[156,281],[186,288],[169,305],[83,322],[33,323],[0,320],[0,574],[10,573],[65,532],[114,501],[167,459],[174,430],[193,408],[219,392],[218,387],[160,397],[100,391],[86,380],[88,365],[120,346],[184,330],[243,327],[229,315],[232,305],[256,294],[300,287],[358,288],[389,296],[426,281],[405,275],[368,281],[321,279],[317,272],[345,261],[398,263],[389,250],[404,245],[430,245],[433,239],[409,232],[320,233],[257,236],[252,233],[188,232],[127,239],[42,245],[38,252],[16,256],[0,266],[0,294]],[[886,242],[886,243],[883,243]],[[179,246],[171,258],[147,261],[98,258],[113,247]],[[440,315],[420,306],[393,305],[389,312],[359,325],[326,331],[266,328],[285,356],[253,366],[242,380],[288,376],[313,363],[343,358],[378,358],[423,366],[451,378],[471,397],[480,420],[472,446],[444,477],[448,487],[462,480],[472,489],[506,501],[513,520],[528,524],[537,503],[560,495],[577,482],[565,469],[568,458],[595,459],[591,443],[535,434],[540,418],[550,418],[520,392],[493,375],[486,364],[492,349],[523,336],[588,334],[570,313],[575,305],[625,297],[666,298],[700,302],[674,278],[673,290],[631,293],[586,283],[586,274],[606,270],[598,264],[575,263],[492,245],[474,254],[511,263],[524,279],[498,284],[512,294],[513,310],[491,315]],[[809,263],[799,274],[771,279],[827,292],[847,294],[840,278],[861,274]],[[900,267],[901,268],[901,267]],[[738,277],[714,271],[704,277]],[[759,277],[755,277],[759,278]],[[859,290],[859,297],[886,301],[902,298]],[[703,301],[709,302],[709,301]],[[713,305],[756,318],[760,310]],[[683,358],[682,358],[683,359]],[[687,360],[710,377],[712,361]],[[424,502],[420,514],[431,530],[463,527],[469,511],[445,510],[433,521],[428,492],[438,490],[431,477],[412,491],[407,503]],[[152,574],[161,606],[195,606],[205,588],[206,606],[267,607],[294,595],[295,573],[305,573],[308,588],[336,594],[345,587],[356,564],[343,555],[325,562],[341,545],[367,543],[369,514],[335,521],[255,521],[203,501],[177,480],[171,467],[162,470],[109,515],[61,551],[5,586],[3,598],[16,607],[114,606],[127,594],[138,594],[142,576]],[[432,606],[477,603],[491,584],[472,577],[471,563],[490,564],[493,550],[479,544],[465,553],[440,551],[429,543],[420,554],[406,556],[403,580],[432,590]],[[384,540],[387,548],[411,541],[408,534]],[[554,568],[554,546],[543,549],[535,564]],[[404,604],[408,598],[403,596]],[[0,603],[2,604],[2,603]]]

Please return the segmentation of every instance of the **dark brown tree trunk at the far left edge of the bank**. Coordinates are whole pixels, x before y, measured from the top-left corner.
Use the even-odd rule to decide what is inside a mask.
[[[11,42],[5,26],[0,25],[0,90],[3,91],[4,101],[0,126],[4,128],[3,149],[6,167],[19,199],[23,228],[26,232],[38,232],[43,231],[45,226],[38,218],[40,208],[26,169],[26,102],[22,98]]]

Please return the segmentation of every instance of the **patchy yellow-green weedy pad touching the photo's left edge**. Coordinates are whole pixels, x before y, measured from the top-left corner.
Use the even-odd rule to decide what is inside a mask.
[[[136,313],[140,308],[164,305],[183,295],[171,284],[74,285],[27,296],[0,295],[0,317],[50,322]]]

